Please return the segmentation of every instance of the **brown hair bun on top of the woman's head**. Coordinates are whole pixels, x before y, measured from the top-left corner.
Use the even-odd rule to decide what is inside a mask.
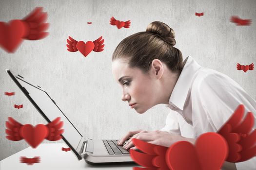
[[[153,34],[158,34],[165,42],[171,44],[171,46],[176,44],[175,33],[173,29],[163,22],[154,21],[150,23],[146,31]]]

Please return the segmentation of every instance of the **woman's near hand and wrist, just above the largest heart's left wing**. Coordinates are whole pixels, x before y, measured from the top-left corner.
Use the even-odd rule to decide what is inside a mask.
[[[196,141],[196,139],[193,139],[193,138],[187,138],[180,135],[173,135],[173,134],[169,134],[168,132],[162,132],[158,130],[152,131],[152,132],[141,131],[140,133],[133,135],[128,140],[128,142],[123,146],[124,149],[128,150],[134,146],[132,142],[133,138],[137,138],[139,140],[143,140],[155,145],[161,145],[165,147],[170,147],[173,143],[181,140],[191,142],[193,145],[195,144],[195,141]],[[136,149],[136,148],[134,147],[133,149]]]

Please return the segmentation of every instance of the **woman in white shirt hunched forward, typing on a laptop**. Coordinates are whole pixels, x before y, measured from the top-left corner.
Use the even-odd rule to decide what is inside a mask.
[[[161,131],[133,131],[123,136],[118,145],[133,147],[132,138],[169,147],[186,140],[195,143],[206,132],[217,132],[239,104],[256,113],[256,101],[234,80],[204,68],[173,47],[175,33],[168,25],[155,21],[146,32],[123,39],[112,57],[112,71],[122,88],[122,101],[142,114],[157,104],[168,104],[166,125]],[[256,122],[256,121],[255,121]],[[254,126],[256,128],[256,126]],[[249,170],[256,159],[242,163],[227,163],[223,168]]]

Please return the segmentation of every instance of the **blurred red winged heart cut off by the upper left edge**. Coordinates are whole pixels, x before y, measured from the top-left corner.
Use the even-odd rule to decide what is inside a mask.
[[[9,23],[0,22],[0,46],[7,52],[15,52],[23,39],[39,40],[48,35],[44,32],[49,23],[45,23],[47,13],[42,7],[37,7],[22,20],[11,20]]]

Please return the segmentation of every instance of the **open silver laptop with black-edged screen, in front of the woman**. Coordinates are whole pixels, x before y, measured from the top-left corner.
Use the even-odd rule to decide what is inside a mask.
[[[10,69],[6,69],[6,72],[48,123],[57,117],[61,118],[64,129],[62,139],[79,160],[84,159],[92,165],[134,163],[129,152],[117,145],[117,140],[86,139],[45,90]]]

